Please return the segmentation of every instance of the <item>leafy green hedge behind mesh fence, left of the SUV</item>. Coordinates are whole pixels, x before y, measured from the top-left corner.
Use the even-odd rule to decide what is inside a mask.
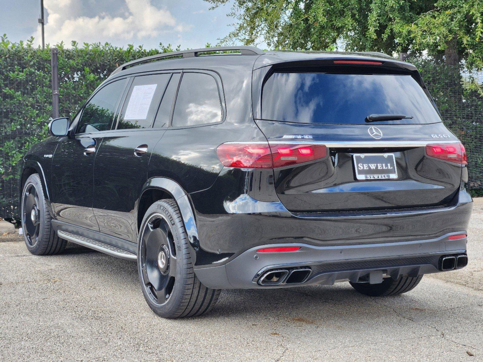
[[[35,143],[47,137],[52,116],[51,49],[28,42],[0,42],[0,217],[17,217],[19,174],[22,158]],[[158,53],[179,50],[170,44],[159,49],[109,43],[71,48],[57,44],[59,114],[74,115],[87,97],[123,63]],[[206,46],[211,46],[207,44]]]

